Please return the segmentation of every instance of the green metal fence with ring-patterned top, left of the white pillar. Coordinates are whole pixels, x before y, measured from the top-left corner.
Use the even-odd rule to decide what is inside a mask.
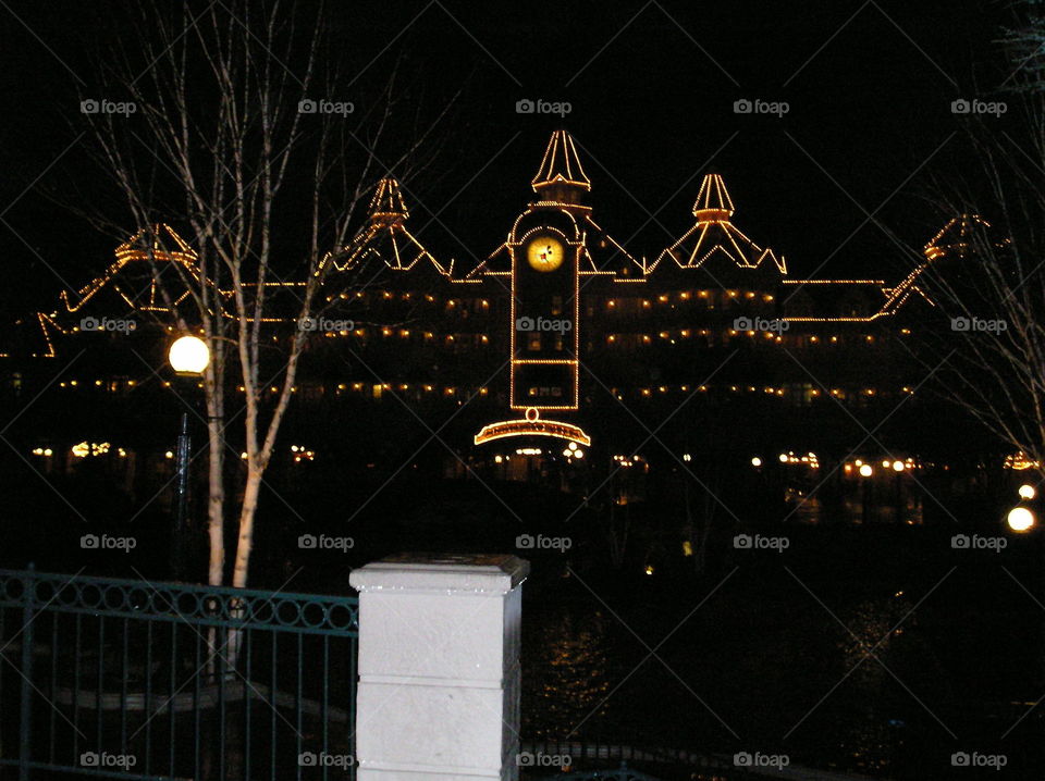
[[[355,597],[0,570],[0,776],[354,779],[357,641]]]

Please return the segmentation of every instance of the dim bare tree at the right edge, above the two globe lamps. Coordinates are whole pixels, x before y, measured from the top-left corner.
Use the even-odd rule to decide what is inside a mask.
[[[951,219],[910,281],[943,314],[929,362],[948,395],[1045,476],[1045,102],[1017,102],[1023,132],[976,124],[972,163],[937,186]]]

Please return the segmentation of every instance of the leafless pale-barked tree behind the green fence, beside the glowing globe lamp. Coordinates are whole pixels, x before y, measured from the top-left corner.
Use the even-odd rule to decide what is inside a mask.
[[[333,265],[322,259],[346,243],[376,181],[413,160],[438,124],[382,165],[373,150],[390,125],[394,78],[367,107],[339,95],[344,44],[327,37],[332,25],[322,8],[303,8],[278,0],[211,3],[200,12],[133,4],[135,33],[107,51],[100,71],[107,98],[134,109],[89,117],[100,162],[144,228],[144,244],[160,247],[153,226],[163,222],[190,231],[196,268],[155,262],[153,275],[170,283],[175,274],[189,289],[180,303],[164,294],[171,325],[199,333],[212,354],[202,377],[211,584],[223,583],[226,569],[225,389],[238,381],[245,405],[232,569],[232,584],[242,587],[265,473],[309,337],[294,325],[325,306]],[[285,325],[273,326],[276,320]]]

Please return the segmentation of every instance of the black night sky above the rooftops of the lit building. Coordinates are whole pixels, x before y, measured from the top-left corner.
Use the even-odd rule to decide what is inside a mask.
[[[895,280],[912,260],[878,227],[861,228],[866,212],[923,245],[941,224],[930,175],[968,168],[950,102],[989,99],[1011,70],[998,44],[1012,21],[1003,2],[331,8],[356,74],[332,97],[365,102],[397,66],[401,144],[454,100],[439,154],[404,186],[422,240],[466,263],[503,240],[549,132],[563,126],[582,149],[597,221],[632,255],[653,257],[690,226],[700,176],[714,170],[736,224],[783,252],[794,275]],[[79,98],[97,91],[90,58],[126,30],[106,2],[12,2],[0,16],[0,250],[11,282],[0,307],[10,317],[50,308],[58,276],[78,286],[111,260],[113,238],[66,204],[107,203],[103,177],[72,142]],[[518,114],[525,98],[571,111]],[[789,111],[734,113],[743,98]]]

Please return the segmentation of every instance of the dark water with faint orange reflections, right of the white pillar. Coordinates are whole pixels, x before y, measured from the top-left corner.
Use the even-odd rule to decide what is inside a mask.
[[[1045,615],[998,562],[951,565],[912,537],[720,563],[659,582],[536,562],[524,735],[894,779],[955,778],[954,752],[991,751],[1009,758],[1001,778],[1045,778],[1042,715],[1020,721],[1041,696]],[[1013,574],[1035,587],[1026,563]]]

